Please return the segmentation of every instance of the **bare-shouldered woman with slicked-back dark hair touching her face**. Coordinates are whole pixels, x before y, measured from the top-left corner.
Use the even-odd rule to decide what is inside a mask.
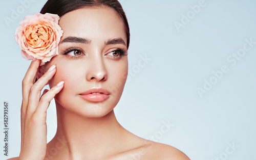
[[[23,79],[22,146],[11,159],[189,159],[116,120],[130,42],[117,0],[49,0],[41,13],[60,16],[63,36],[59,55],[42,66],[33,60]],[[51,89],[40,96],[47,84]],[[47,144],[46,111],[53,98],[58,127]]]

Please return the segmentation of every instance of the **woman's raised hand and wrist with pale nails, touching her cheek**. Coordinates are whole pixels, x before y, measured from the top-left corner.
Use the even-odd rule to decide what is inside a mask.
[[[47,147],[46,115],[50,101],[63,88],[63,82],[50,90],[41,90],[56,72],[55,65],[35,82],[40,60],[32,61],[22,82],[22,108],[20,120],[22,145],[19,159],[44,159]],[[35,83],[34,83],[35,82]],[[40,96],[41,95],[41,96]]]

